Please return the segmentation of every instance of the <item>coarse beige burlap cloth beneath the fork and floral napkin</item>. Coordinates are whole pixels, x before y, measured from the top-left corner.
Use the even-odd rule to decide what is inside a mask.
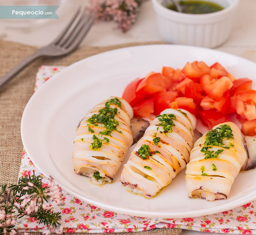
[[[108,47],[82,47],[65,57],[38,59],[31,63],[26,69],[20,72],[19,75],[14,77],[2,90],[0,90],[0,184],[7,183],[10,185],[16,183],[18,180],[20,160],[23,150],[20,137],[20,121],[23,110],[33,94],[36,72],[41,65],[68,66],[78,60],[108,50],[146,44],[159,44],[159,42],[130,43]],[[36,52],[36,50],[36,47],[0,40],[0,77],[28,55]],[[132,232],[129,234],[180,235],[181,233],[181,229],[153,229],[150,231]],[[34,235],[38,233],[31,234]],[[74,233],[74,235],[75,234],[77,233]],[[114,235],[115,233],[110,234]]]

